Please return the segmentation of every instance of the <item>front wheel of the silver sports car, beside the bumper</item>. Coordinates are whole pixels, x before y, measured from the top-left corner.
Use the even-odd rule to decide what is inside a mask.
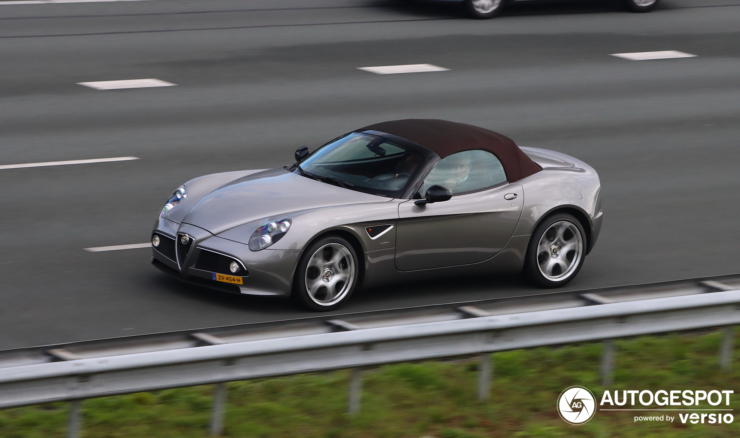
[[[292,298],[317,312],[333,310],[347,301],[360,282],[354,247],[339,236],[317,239],[298,261]]]

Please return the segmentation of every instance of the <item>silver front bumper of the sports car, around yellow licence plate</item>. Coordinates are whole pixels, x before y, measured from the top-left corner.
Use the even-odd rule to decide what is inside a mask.
[[[293,273],[302,251],[295,250],[249,250],[246,244],[212,236],[202,228],[183,224],[175,236],[157,229],[157,233],[167,243],[178,242],[179,237],[186,233],[192,240],[189,247],[175,244],[174,250],[158,250],[152,248],[152,264],[159,270],[178,280],[186,281],[198,286],[209,287],[223,292],[241,293],[246,295],[290,295]],[[243,284],[230,284],[213,279],[214,271],[203,267],[213,266],[204,264],[203,259],[211,257],[213,253],[234,259],[244,268],[237,274],[228,271],[217,272],[228,276],[241,276]],[[223,271],[223,269],[221,269]],[[245,272],[246,271],[246,272]]]

